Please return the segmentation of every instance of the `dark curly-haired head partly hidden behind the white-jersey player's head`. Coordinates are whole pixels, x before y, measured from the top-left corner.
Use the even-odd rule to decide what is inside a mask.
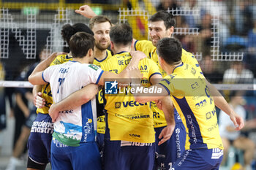
[[[71,26],[69,23],[62,26],[61,29],[61,36],[64,39],[64,41],[67,42],[69,45],[69,40],[72,35],[74,35],[77,32],[86,32],[88,34],[94,35],[93,31],[86,26],[84,23],[75,23],[73,26]],[[69,48],[64,48],[64,52],[69,53]]]

